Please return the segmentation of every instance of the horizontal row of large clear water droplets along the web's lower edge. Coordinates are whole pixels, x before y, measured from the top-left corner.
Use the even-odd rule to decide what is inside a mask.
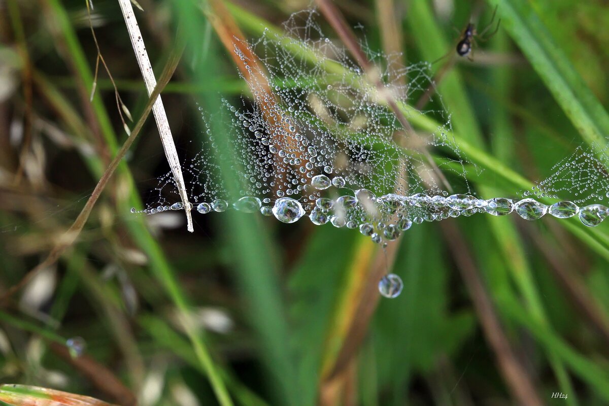
[[[324,190],[331,186],[343,189],[345,179],[337,176],[330,180],[326,175],[317,175],[311,180],[311,187]],[[305,187],[305,191],[309,189]],[[558,219],[579,216],[583,225],[599,225],[609,215],[609,208],[599,204],[579,207],[572,201],[558,201],[553,205],[544,205],[533,198],[515,201],[510,198],[496,197],[489,200],[472,195],[454,194],[450,196],[429,196],[423,193],[414,195],[385,194],[377,197],[368,189],[357,189],[354,195],[342,195],[336,199],[320,197],[305,208],[300,201],[292,197],[280,197],[272,202],[270,198],[260,200],[258,197],[245,196],[232,205],[227,200],[216,199],[210,203],[199,203],[195,209],[201,214],[211,211],[224,212],[234,208],[242,212],[259,211],[263,215],[274,215],[283,223],[294,223],[308,215],[315,225],[331,223],[336,227],[359,228],[359,231],[370,236],[375,242],[395,240],[401,233],[424,221],[448,219],[448,217],[470,216],[476,213],[488,213],[501,216],[516,212],[525,220],[541,219],[551,214]],[[446,194],[446,192],[445,192]],[[141,212],[155,214],[167,210],[182,209],[181,202],[171,206],[158,206]],[[137,212],[135,208],[132,212]],[[386,220],[389,220],[387,222]]]

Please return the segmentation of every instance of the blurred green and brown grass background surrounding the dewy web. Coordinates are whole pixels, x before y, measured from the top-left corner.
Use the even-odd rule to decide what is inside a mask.
[[[224,4],[248,38],[310,6]],[[484,27],[495,4],[335,2],[365,27],[371,50],[403,51],[406,64],[450,53],[456,63],[438,93],[485,198],[517,197],[609,134],[607,2],[501,1],[496,35],[477,41],[473,61],[457,61],[454,28],[472,16]],[[2,292],[62,241],[127,138],[101,66],[90,102],[90,21],[134,121],[148,100],[118,2],[93,5],[90,20],[84,0],[0,4]],[[157,75],[179,48],[178,30],[185,40],[163,101],[188,163],[202,136],[196,103],[214,111],[220,96],[247,97],[247,85],[209,23],[217,4],[139,5]],[[77,241],[2,296],[0,382],[142,406],[609,404],[606,224],[516,215],[423,223],[389,248],[403,293],[379,300],[384,253],[355,231],[194,212],[191,234],[178,211],[130,214],[155,204],[150,191],[169,170],[152,117],[124,161]],[[86,343],[79,357],[66,355],[74,337]]]

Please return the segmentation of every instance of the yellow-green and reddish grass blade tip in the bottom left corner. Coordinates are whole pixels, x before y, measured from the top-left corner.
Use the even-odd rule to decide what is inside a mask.
[[[27,385],[0,385],[0,405],[5,406],[113,406],[93,397]]]

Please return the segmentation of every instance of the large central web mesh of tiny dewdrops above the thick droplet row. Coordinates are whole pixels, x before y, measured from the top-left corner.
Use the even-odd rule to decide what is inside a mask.
[[[253,89],[252,96],[242,96],[238,103],[223,100],[221,114],[203,113],[203,145],[185,168],[192,177],[191,201],[197,205],[228,198],[215,163],[225,152],[217,148],[219,135],[209,125],[214,119],[230,122],[230,142],[238,152],[230,159],[242,180],[242,195],[264,203],[289,196],[305,208],[312,207],[314,200],[328,193],[311,187],[312,179],[321,174],[329,180],[339,178],[337,184],[344,180],[351,191],[366,188],[379,196],[446,196],[454,189],[452,183],[470,194],[465,159],[448,136],[451,124],[442,101],[432,96],[428,103],[432,109],[421,112],[409,107],[431,85],[429,63],[390,68],[402,55],[374,52],[362,41],[362,50],[374,66],[363,71],[342,44],[324,35],[318,19],[316,10],[305,10],[283,24],[284,33],[265,30],[246,44],[255,60],[235,46],[234,52],[252,73],[241,74]],[[262,82],[270,84],[270,92]],[[388,107],[391,100],[400,112]],[[429,114],[442,124],[431,133],[412,131],[400,124],[397,114],[406,119]],[[452,153],[434,161],[430,151],[438,146]],[[179,201],[169,173],[160,178],[157,191],[157,201],[149,209]]]

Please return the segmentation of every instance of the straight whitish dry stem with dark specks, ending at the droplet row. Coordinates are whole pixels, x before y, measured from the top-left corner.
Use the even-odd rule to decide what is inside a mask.
[[[150,65],[148,52],[146,52],[146,46],[144,46],[144,40],[142,39],[142,34],[139,31],[138,21],[135,19],[135,14],[133,13],[133,7],[131,6],[130,0],[118,0],[118,2],[121,5],[122,16],[125,18],[125,24],[127,25],[129,36],[131,37],[131,44],[133,45],[133,51],[135,51],[135,57],[138,60],[139,69],[142,72],[144,83],[146,83],[146,89],[150,95],[157,85],[157,79],[155,79],[154,72],[152,71],[152,65]],[[165,113],[161,96],[158,96],[157,101],[154,103],[152,112],[155,120],[157,121],[158,133],[161,136],[161,142],[163,143],[167,163],[169,163],[171,172],[174,174],[175,183],[178,187],[178,192],[180,193],[180,197],[186,211],[188,231],[191,231],[192,233],[192,231],[194,231],[194,228],[192,228],[191,216],[192,206],[189,203],[188,195],[186,194],[180,159],[178,158],[178,153],[175,150],[174,138],[171,135],[171,128],[169,128],[169,122],[167,121],[167,114]]]

